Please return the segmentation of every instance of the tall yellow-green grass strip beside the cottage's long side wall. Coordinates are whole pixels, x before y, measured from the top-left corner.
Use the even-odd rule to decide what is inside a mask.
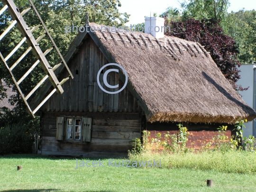
[[[161,159],[163,168],[186,168],[192,170],[213,170],[223,173],[256,174],[256,153],[229,150],[203,151],[201,153],[143,153],[130,155],[135,161]]]

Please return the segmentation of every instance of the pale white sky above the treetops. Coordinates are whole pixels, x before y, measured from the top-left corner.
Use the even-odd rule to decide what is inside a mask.
[[[178,0],[120,0],[120,2],[122,7],[119,7],[119,11],[131,14],[126,26],[144,22],[144,16],[150,17],[150,12],[153,16],[153,13],[159,15],[165,12],[168,7],[181,9]],[[243,8],[256,10],[256,0],[229,0],[229,2],[228,12],[236,12]]]

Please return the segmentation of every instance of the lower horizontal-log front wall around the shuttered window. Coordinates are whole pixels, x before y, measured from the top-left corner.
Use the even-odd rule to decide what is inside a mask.
[[[57,117],[92,119],[91,142],[58,141]],[[141,114],[120,112],[44,112],[42,114],[42,155],[76,154],[84,157],[125,157],[132,149],[132,139],[141,137]],[[65,133],[64,133],[65,136]]]

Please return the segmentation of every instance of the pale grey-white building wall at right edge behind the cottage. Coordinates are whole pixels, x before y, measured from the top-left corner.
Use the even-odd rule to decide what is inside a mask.
[[[255,110],[254,82],[256,81],[256,79],[254,79],[254,73],[256,69],[254,69],[254,67],[256,67],[256,64],[242,64],[240,67],[238,67],[238,70],[241,70],[241,72],[239,73],[241,79],[238,80],[237,84],[242,85],[243,88],[249,87],[248,90],[240,91],[239,94],[241,94],[242,99]],[[253,120],[244,124],[246,126],[246,128],[243,128],[244,137],[248,137],[249,135],[256,136],[255,131],[253,130],[255,128],[253,124],[255,125],[255,123],[256,121]]]

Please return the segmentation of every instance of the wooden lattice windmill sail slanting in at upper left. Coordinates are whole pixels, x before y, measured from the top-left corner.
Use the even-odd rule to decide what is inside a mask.
[[[30,0],[29,0],[30,1]],[[35,40],[35,38],[33,37],[32,33],[41,25],[37,25],[35,27],[33,27],[31,30],[29,27],[27,27],[27,24],[25,23],[24,19],[22,18],[22,15],[24,15],[25,13],[27,13],[30,9],[25,9],[23,10],[21,13],[19,13],[19,9],[16,7],[15,3],[13,0],[2,0],[2,3],[4,4],[4,7],[0,10],[0,15],[7,9],[10,16],[13,19],[13,22],[11,23],[11,25],[9,27],[7,27],[7,29],[0,35],[0,40],[9,32],[9,30],[15,26],[15,24],[17,24],[17,27],[19,29],[19,31],[21,32],[21,34],[23,35],[23,39],[18,43],[18,45],[9,53],[9,55],[6,56],[6,58],[3,57],[3,55],[0,53],[0,57],[2,59],[2,61],[4,62],[5,66],[7,67],[13,81],[14,84],[16,85],[20,95],[22,96],[22,99],[24,100],[25,104],[27,105],[27,108],[29,110],[29,112],[31,113],[31,115],[35,118],[35,113],[37,112],[37,110],[57,91],[58,93],[63,93],[63,89],[62,89],[62,84],[64,82],[66,82],[70,77],[73,78],[72,73],[70,72],[69,68],[67,67],[67,64],[64,61],[63,56],[61,55],[61,53],[58,50],[58,47],[55,45],[55,42],[53,40],[53,38],[51,37],[50,33],[48,32],[42,18],[40,17],[40,15],[37,12],[37,9],[35,8],[35,6],[33,5],[32,1],[30,1],[31,6],[33,7],[33,9],[35,10],[37,17],[40,19],[41,24],[43,25],[43,27],[46,30],[47,35],[50,37],[50,40],[52,41],[52,43],[54,44],[55,49],[57,50],[58,54],[60,55],[62,62],[64,63],[64,65],[66,66],[67,70],[69,71],[70,75],[69,77],[63,79],[61,82],[58,81],[57,77],[55,76],[54,71],[61,65],[57,64],[55,65],[55,67],[51,67],[48,63],[48,61],[46,60],[45,55],[48,54],[53,47],[51,47],[50,49],[47,49],[45,51],[45,53],[43,53],[39,47],[39,44],[37,44],[38,41],[40,41],[43,37],[45,37],[45,34],[38,37],[37,40]],[[26,50],[26,52],[21,55],[21,57],[9,68],[8,64],[6,63],[6,61],[18,50],[18,48],[25,42],[27,41],[27,44],[29,46],[29,48]],[[35,64],[33,64],[30,69],[21,77],[21,79],[17,82],[15,80],[14,75],[12,74],[12,70],[15,66],[17,66],[17,64],[27,55],[27,53],[32,50],[32,52],[34,53],[34,55],[37,58],[37,61]],[[20,87],[18,86],[18,84],[20,82],[22,82],[29,73],[31,73],[31,71],[37,66],[37,64],[41,65],[41,67],[43,68],[44,72],[46,73],[46,76],[34,87],[34,89],[32,91],[30,91],[28,93],[28,95],[26,96],[26,98],[24,97],[24,94],[22,93]],[[35,108],[35,110],[31,110],[30,106],[27,103],[27,99],[43,84],[43,82],[46,81],[46,79],[49,78],[51,84],[54,86],[53,91],[51,91],[51,93]]]

